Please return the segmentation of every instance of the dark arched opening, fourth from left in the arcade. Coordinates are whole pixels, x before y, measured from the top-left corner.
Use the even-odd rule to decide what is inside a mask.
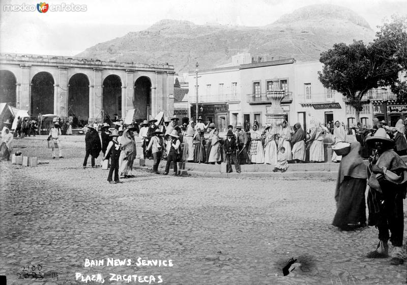
[[[103,80],[103,111],[114,118],[114,114],[122,117],[122,80],[117,75],[109,75]],[[101,114],[96,114],[100,117]]]

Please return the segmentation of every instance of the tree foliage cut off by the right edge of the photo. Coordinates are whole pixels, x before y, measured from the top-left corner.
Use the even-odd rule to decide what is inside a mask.
[[[391,21],[379,27],[374,46],[380,56],[394,60],[404,73],[390,86],[400,101],[407,102],[407,16],[393,15]]]

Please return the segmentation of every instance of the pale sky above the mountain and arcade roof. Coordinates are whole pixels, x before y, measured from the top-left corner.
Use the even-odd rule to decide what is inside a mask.
[[[5,5],[29,9],[26,7],[37,7],[38,3],[0,0],[0,52],[73,56],[97,43],[146,29],[162,19],[264,26],[314,4],[350,8],[365,18],[373,30],[385,17],[407,15],[407,0],[53,0],[46,3],[54,7],[74,5],[85,11],[5,11]]]

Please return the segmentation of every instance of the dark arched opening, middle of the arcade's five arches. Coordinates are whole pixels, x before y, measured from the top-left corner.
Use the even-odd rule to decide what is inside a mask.
[[[89,79],[83,73],[77,73],[69,80],[68,116],[78,121],[89,119]]]

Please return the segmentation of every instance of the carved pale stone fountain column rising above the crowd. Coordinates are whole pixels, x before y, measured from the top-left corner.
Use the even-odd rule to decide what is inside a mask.
[[[271,123],[273,128],[281,126],[281,123],[287,117],[287,113],[281,108],[281,101],[285,97],[285,91],[280,89],[279,86],[279,80],[273,79],[272,90],[267,91],[267,98],[271,101],[271,108],[267,110],[266,117],[267,122]],[[278,128],[276,130],[278,131]]]

